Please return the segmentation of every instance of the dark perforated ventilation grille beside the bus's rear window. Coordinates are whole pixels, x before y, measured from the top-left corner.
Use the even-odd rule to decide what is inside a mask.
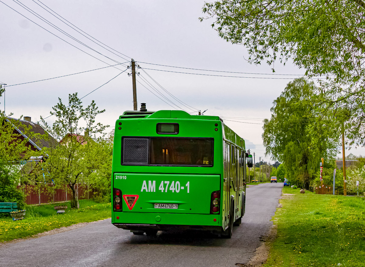
[[[123,164],[148,164],[148,138],[124,138]]]

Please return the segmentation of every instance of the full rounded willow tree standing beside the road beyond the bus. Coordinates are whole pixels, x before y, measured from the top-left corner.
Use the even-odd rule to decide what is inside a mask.
[[[295,79],[273,102],[271,118],[264,120],[266,154],[285,164],[287,178],[308,187],[321,157],[334,158],[337,126],[316,111],[314,83]]]

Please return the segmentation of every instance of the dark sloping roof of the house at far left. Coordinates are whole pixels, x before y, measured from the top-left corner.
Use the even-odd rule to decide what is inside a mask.
[[[13,124],[13,127],[18,131],[19,134],[21,134],[25,139],[29,138],[29,142],[38,150],[42,150],[42,148],[47,147],[49,148],[49,142],[47,140],[44,139],[39,139],[37,140],[37,138],[35,137],[29,137],[27,136],[27,133],[25,133],[24,128],[25,127],[29,127],[29,130],[32,131],[33,133],[36,134],[47,134],[49,137],[50,142],[52,142],[53,144],[57,144],[57,141],[49,134],[47,133],[41,125],[34,123],[34,122],[29,122],[29,121],[25,121],[22,119],[15,119],[15,118],[11,118],[11,117],[6,117],[5,120],[7,122],[12,123],[12,121],[19,121],[21,123],[21,125],[19,127],[16,127]]]

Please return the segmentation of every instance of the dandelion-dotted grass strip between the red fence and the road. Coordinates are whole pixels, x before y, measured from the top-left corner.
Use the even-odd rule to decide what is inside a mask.
[[[70,202],[57,203],[67,205],[64,214],[56,214],[55,204],[27,206],[23,220],[12,221],[10,217],[0,218],[0,243],[18,238],[25,238],[63,226],[79,222],[92,222],[109,218],[110,203],[96,203],[91,200],[80,200],[80,209],[70,209]]]

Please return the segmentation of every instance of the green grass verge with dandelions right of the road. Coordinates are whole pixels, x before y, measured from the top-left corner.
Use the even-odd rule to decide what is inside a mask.
[[[364,266],[365,198],[283,188],[268,266]]]

